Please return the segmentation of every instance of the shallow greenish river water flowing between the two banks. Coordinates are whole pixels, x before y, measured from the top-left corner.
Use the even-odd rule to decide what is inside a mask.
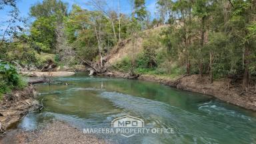
[[[81,75],[55,78],[55,82],[36,86],[45,109],[29,113],[19,127],[31,130],[61,119],[82,131],[111,127],[116,117],[132,115],[143,119],[145,127],[171,127],[174,133],[97,136],[113,143],[256,143],[256,113],[210,96],[118,78]]]

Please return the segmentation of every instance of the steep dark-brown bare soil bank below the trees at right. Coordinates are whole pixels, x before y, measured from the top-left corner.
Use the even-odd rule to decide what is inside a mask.
[[[211,84],[207,80],[200,82],[197,75],[185,76],[179,80],[177,88],[209,94],[227,103],[256,111],[256,93],[254,90],[243,92],[242,86],[233,86],[225,81],[214,81]]]

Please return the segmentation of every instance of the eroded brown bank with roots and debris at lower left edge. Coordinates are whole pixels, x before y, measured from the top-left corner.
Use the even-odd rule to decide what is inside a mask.
[[[0,102],[0,137],[5,134],[6,129],[14,127],[28,111],[38,106],[33,86],[5,94]]]

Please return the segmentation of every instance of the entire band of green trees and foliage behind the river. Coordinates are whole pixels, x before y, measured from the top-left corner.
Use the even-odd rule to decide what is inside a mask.
[[[17,9],[15,1],[5,1],[0,10],[6,5]],[[3,35],[1,60],[41,68],[49,60],[68,65],[81,64],[83,58],[102,66],[103,56],[130,39],[132,54],[117,62],[119,69],[171,76],[199,74],[210,82],[233,78],[244,90],[255,84],[255,0],[157,0],[153,21],[145,0],[132,1],[131,15],[119,13],[106,0],[89,0],[86,5],[92,9],[73,5],[68,10],[68,3],[60,0],[33,5],[29,33],[17,35],[8,28],[9,40]],[[13,19],[18,21],[16,14]],[[166,27],[161,33],[142,35],[161,25]],[[136,55],[138,38],[143,38],[143,50]]]

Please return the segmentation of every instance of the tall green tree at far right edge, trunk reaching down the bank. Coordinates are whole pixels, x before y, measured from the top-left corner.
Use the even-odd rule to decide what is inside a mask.
[[[249,89],[250,71],[255,72],[256,1],[229,1],[231,12],[228,33],[239,44],[243,62],[243,90]],[[255,74],[255,73],[254,73]]]

